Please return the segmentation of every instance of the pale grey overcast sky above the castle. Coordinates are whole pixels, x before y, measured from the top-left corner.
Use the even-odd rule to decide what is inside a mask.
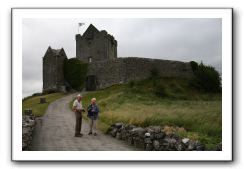
[[[23,97],[42,91],[42,57],[48,46],[75,57],[78,23],[92,23],[118,41],[118,57],[203,61],[222,72],[221,19],[24,19]]]

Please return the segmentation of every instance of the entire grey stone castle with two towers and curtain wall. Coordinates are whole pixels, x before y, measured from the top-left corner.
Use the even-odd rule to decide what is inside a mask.
[[[105,30],[92,24],[83,35],[76,35],[76,58],[89,64],[85,89],[103,89],[131,80],[143,80],[156,68],[161,77],[190,78],[193,76],[189,62],[161,59],[117,57],[117,41]],[[48,47],[43,57],[43,92],[65,91],[67,82],[63,75],[64,49]]]

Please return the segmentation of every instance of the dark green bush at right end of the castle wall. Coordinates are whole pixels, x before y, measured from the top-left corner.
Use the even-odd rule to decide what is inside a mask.
[[[204,90],[205,92],[220,92],[221,78],[219,73],[212,66],[206,66],[203,63],[199,65],[191,62],[194,77],[191,79],[191,86]]]

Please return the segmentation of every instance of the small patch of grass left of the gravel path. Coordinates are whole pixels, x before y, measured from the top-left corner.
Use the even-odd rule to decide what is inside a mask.
[[[32,112],[35,116],[43,116],[46,112],[48,105],[63,96],[63,93],[52,93],[43,96],[29,97],[22,101],[22,113],[25,109],[32,109]],[[40,104],[40,97],[45,97],[47,103]]]

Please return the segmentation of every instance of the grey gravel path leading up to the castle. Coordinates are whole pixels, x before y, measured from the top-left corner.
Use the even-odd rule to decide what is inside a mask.
[[[83,137],[74,137],[75,115],[69,102],[75,94],[51,103],[45,115],[37,120],[33,134],[32,151],[132,151],[132,146],[104,135],[88,136],[89,126],[83,119]]]

